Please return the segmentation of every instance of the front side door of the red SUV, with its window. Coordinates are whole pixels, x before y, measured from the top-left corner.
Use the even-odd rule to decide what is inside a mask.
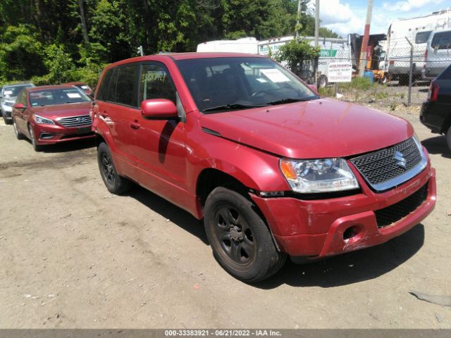
[[[168,99],[177,105],[178,94],[163,63],[142,63],[138,101]],[[181,106],[181,105],[179,105]],[[137,132],[139,182],[174,204],[187,203],[185,123],[178,119],[149,120],[142,114],[134,121]]]

